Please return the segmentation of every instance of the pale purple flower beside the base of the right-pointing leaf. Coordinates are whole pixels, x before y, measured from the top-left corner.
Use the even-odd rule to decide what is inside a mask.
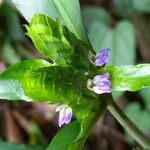
[[[106,73],[95,76],[93,80],[89,79],[87,82],[88,89],[96,94],[110,93],[111,82],[108,80],[109,77],[109,73]]]

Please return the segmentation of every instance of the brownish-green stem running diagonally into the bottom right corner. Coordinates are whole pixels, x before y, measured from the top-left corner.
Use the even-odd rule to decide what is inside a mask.
[[[143,147],[150,148],[150,139],[145,136],[122,112],[122,110],[112,101],[108,105],[108,110],[117,119],[117,121],[125,128],[129,134]]]

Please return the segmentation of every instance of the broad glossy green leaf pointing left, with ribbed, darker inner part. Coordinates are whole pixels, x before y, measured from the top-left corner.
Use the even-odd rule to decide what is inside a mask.
[[[27,96],[50,102],[78,99],[80,73],[72,68],[50,66],[43,60],[29,60],[7,69],[0,76],[0,97],[24,99]]]

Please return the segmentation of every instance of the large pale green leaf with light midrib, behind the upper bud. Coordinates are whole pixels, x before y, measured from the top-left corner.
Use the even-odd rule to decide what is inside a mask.
[[[44,14],[53,20],[60,18],[75,36],[89,44],[82,24],[78,0],[9,0],[30,22],[35,14]],[[27,11],[28,10],[28,11]]]

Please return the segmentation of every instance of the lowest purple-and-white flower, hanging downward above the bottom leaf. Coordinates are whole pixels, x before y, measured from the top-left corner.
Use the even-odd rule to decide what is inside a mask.
[[[56,108],[56,112],[59,112],[58,125],[61,127],[63,124],[68,124],[72,118],[72,109],[67,105],[60,105]]]

